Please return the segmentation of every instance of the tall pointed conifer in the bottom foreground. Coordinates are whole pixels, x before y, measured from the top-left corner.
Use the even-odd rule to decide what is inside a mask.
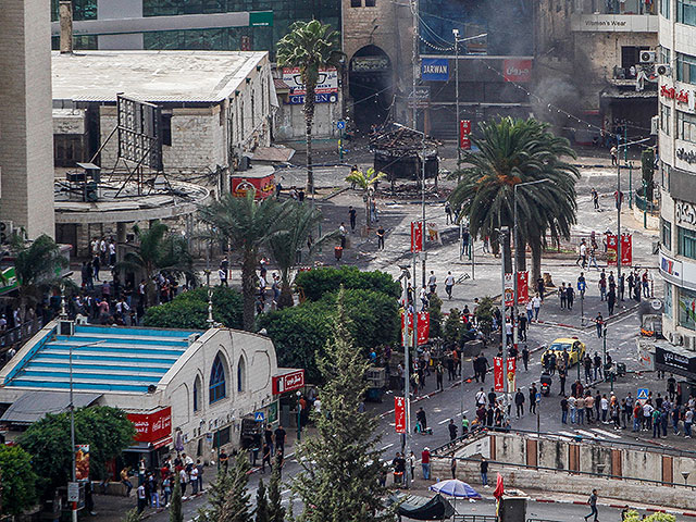
[[[300,522],[377,522],[394,520],[385,509],[387,490],[380,484],[383,472],[377,418],[359,413],[366,391],[368,361],[355,349],[343,290],[338,295],[334,336],[326,344],[320,370],[326,384],[319,397],[322,410],[312,413],[316,435],[299,445],[301,471],[293,489],[302,500]]]

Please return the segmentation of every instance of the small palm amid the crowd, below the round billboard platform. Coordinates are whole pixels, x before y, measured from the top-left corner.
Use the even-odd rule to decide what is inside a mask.
[[[137,237],[138,248],[127,252],[123,261],[116,263],[116,268],[137,272],[145,277],[148,304],[159,302],[153,281],[158,273],[169,272],[176,277],[196,279],[194,258],[188,251],[188,244],[183,237],[170,233],[169,226],[156,221],[147,229],[135,225],[133,232]]]

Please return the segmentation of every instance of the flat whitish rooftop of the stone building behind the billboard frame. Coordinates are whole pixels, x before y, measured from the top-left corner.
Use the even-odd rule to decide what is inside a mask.
[[[79,51],[52,54],[53,100],[220,102],[262,62],[257,51]]]

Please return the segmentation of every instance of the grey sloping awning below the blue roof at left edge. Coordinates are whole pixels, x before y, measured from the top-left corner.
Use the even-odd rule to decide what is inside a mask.
[[[73,394],[75,408],[91,406],[102,394]],[[70,394],[66,391],[27,391],[8,408],[0,423],[33,424],[47,413],[63,413],[70,408]]]

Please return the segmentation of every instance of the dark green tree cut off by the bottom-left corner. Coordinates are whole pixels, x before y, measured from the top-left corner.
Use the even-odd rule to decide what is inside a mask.
[[[29,453],[18,446],[0,446],[3,515],[21,514],[36,504],[36,481]]]

